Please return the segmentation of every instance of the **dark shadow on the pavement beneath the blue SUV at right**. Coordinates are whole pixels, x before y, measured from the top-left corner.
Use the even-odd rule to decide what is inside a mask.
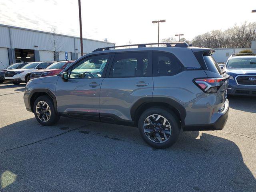
[[[228,96],[230,108],[256,113],[256,97]]]

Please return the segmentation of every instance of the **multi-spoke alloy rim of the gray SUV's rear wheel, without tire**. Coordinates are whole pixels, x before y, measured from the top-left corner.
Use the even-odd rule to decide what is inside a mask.
[[[171,124],[164,116],[158,114],[148,116],[143,128],[147,138],[155,143],[166,142],[172,133]]]

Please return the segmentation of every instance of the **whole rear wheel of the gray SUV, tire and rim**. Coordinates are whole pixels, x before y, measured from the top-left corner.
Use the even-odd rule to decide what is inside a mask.
[[[152,107],[145,110],[138,121],[143,140],[154,148],[172,146],[180,134],[179,120],[164,108]]]

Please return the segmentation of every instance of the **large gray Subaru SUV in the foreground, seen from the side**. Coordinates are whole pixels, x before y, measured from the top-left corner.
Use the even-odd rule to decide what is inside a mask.
[[[185,42],[98,48],[57,76],[30,80],[24,102],[42,125],[60,116],[137,126],[144,141],[167,148],[180,130],[221,130],[228,76],[212,49]]]

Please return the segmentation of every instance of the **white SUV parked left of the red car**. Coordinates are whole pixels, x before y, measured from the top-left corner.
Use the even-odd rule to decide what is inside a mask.
[[[12,82],[13,84],[20,84],[21,82],[28,82],[30,80],[30,73],[35,69],[45,69],[54,62],[31,62],[26,64],[20,69],[8,70],[4,74],[6,81]]]

